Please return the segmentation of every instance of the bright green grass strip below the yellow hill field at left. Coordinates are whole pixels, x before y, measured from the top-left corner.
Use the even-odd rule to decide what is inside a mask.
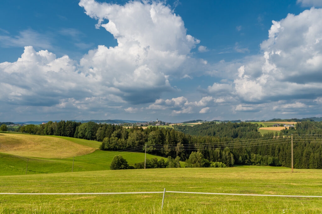
[[[134,166],[135,163],[143,162],[145,154],[143,152],[116,152],[102,151],[76,156],[74,158],[74,172],[109,170],[110,163],[114,156],[122,155],[128,164]],[[24,175],[26,173],[27,158],[8,157],[7,154],[0,153],[0,175]],[[162,158],[147,154],[147,158]],[[167,158],[164,158],[167,160]],[[29,158],[27,174],[59,173],[71,172],[73,158]],[[183,163],[181,163],[183,165]]]

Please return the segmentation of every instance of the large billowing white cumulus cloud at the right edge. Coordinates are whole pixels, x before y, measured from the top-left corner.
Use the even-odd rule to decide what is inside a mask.
[[[321,96],[322,9],[272,23],[263,55],[238,69],[234,93],[250,102]]]

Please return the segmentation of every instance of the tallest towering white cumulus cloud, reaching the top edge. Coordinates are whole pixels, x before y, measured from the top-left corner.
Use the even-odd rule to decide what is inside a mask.
[[[105,28],[118,41],[116,47],[99,46],[89,51],[80,65],[86,72],[108,80],[105,84],[117,88],[126,101],[153,102],[161,92],[174,90],[169,75],[189,76],[185,68],[191,69],[188,64],[194,59],[188,55],[200,40],[186,34],[181,17],[169,6],[161,2],[118,5],[94,0],[81,0],[79,5],[98,20],[96,27]]]

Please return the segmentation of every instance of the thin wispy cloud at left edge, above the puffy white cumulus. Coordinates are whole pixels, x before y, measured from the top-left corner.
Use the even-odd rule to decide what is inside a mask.
[[[8,31],[5,31],[5,35],[0,35],[2,47],[33,46],[40,49],[52,48],[50,37],[46,34],[40,34],[31,29],[20,31],[18,36],[11,36],[8,33]]]

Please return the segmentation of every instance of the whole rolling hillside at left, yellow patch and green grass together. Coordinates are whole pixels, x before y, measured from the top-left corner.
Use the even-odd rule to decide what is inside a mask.
[[[18,141],[16,141],[17,139]],[[75,156],[74,172],[109,170],[109,165],[115,155],[122,155],[128,161],[128,164],[132,166],[135,163],[144,161],[145,157],[143,152],[96,150],[100,142],[78,138],[1,133],[0,140],[2,142],[0,149],[0,175],[25,174],[27,159],[27,174],[41,174],[71,172],[72,156]],[[52,146],[53,144],[55,146]],[[89,148],[90,151],[94,152],[87,155],[77,155],[78,153],[75,153],[73,148]],[[63,154],[69,154],[68,157],[70,158],[60,158]],[[162,157],[147,154],[147,158],[160,159]],[[167,158],[164,159],[166,160]]]

